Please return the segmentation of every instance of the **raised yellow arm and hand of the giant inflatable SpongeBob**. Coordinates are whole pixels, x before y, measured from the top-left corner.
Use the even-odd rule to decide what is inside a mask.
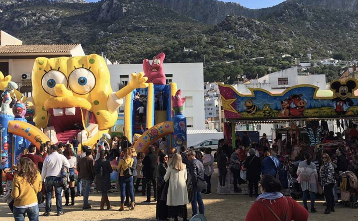
[[[147,77],[143,77],[144,73],[140,72],[137,74],[132,74],[131,81],[123,87],[121,90],[117,92],[113,92],[109,95],[107,100],[107,109],[111,113],[115,112],[122,104],[123,104],[123,98],[131,93],[134,89],[139,87],[148,87],[148,83],[145,83],[146,80],[148,80]]]

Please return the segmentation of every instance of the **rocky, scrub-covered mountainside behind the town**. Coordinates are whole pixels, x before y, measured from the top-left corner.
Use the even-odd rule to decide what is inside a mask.
[[[309,61],[308,53],[314,59],[334,53],[346,59],[358,57],[356,10],[312,5],[318,0],[289,0],[258,10],[214,0],[83,3],[0,0],[0,28],[24,44],[81,43],[86,54],[104,53],[120,63],[141,63],[161,51],[165,62],[205,61],[205,81],[228,76],[233,81],[243,74],[260,77]],[[184,52],[183,47],[193,51]],[[329,73],[327,80],[337,77],[338,71],[315,69]]]

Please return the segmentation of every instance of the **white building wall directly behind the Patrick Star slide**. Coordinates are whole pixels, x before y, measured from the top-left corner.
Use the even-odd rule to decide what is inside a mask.
[[[120,75],[130,75],[143,71],[142,64],[108,65],[111,73],[111,86],[118,89]],[[193,99],[193,107],[185,107],[183,114],[193,117],[193,129],[205,128],[204,113],[204,72],[203,63],[164,63],[165,74],[172,74],[172,81],[182,90],[182,97],[190,96]]]

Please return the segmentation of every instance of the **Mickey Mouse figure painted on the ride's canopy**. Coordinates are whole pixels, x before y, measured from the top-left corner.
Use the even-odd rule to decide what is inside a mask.
[[[352,94],[354,95],[355,89],[357,89],[357,82],[354,80],[348,80],[344,84],[340,81],[334,81],[331,84],[331,90],[335,98],[333,101],[333,109],[338,115],[351,115],[352,111],[348,111],[353,106],[353,101],[350,99]]]

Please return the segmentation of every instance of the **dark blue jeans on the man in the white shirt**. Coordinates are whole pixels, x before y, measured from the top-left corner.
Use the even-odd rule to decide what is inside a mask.
[[[56,196],[56,207],[57,212],[62,212],[62,185],[61,178],[56,176],[48,176],[45,179],[45,190],[46,190],[46,209],[45,212],[51,212],[51,197],[52,197],[52,188],[55,187],[55,196]]]

